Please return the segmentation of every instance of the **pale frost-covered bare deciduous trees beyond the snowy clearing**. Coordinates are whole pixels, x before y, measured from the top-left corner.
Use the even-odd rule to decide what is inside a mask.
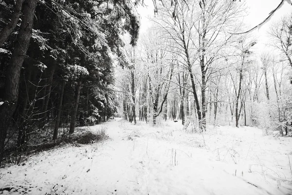
[[[234,124],[287,135],[292,16],[270,27],[270,51],[257,51],[257,40],[240,33],[246,27],[239,1],[174,2],[157,3],[152,28],[137,46],[125,47],[131,65],[118,71],[126,92],[119,112],[153,125],[157,117],[181,119],[184,129],[198,132]]]

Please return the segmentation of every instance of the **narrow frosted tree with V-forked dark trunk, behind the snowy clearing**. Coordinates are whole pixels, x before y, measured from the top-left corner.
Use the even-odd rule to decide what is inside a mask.
[[[149,96],[153,109],[153,125],[156,125],[156,118],[163,112],[176,60],[175,56],[170,57],[170,53],[166,49],[166,41],[155,29],[151,29],[151,32],[149,31],[143,40],[144,71],[148,80]]]

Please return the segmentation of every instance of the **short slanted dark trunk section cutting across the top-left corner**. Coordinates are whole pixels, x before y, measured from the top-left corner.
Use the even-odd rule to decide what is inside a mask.
[[[20,13],[21,13],[22,3],[23,3],[23,0],[16,0],[16,4],[14,7],[12,18],[11,18],[9,24],[7,24],[2,29],[2,32],[0,34],[0,46],[8,39],[8,37],[11,35],[13,30],[17,26],[18,20],[20,17]]]

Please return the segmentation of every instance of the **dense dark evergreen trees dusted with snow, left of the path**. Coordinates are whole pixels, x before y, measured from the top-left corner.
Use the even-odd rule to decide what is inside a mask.
[[[3,0],[0,19],[0,160],[39,132],[55,140],[116,112],[113,65],[128,63],[120,37],[138,39],[132,2]]]

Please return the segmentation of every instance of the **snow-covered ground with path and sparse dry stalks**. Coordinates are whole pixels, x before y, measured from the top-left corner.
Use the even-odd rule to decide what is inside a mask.
[[[105,128],[110,140],[63,145],[1,169],[0,194],[292,195],[291,137],[252,127],[189,134],[179,122],[120,118],[91,131]]]

